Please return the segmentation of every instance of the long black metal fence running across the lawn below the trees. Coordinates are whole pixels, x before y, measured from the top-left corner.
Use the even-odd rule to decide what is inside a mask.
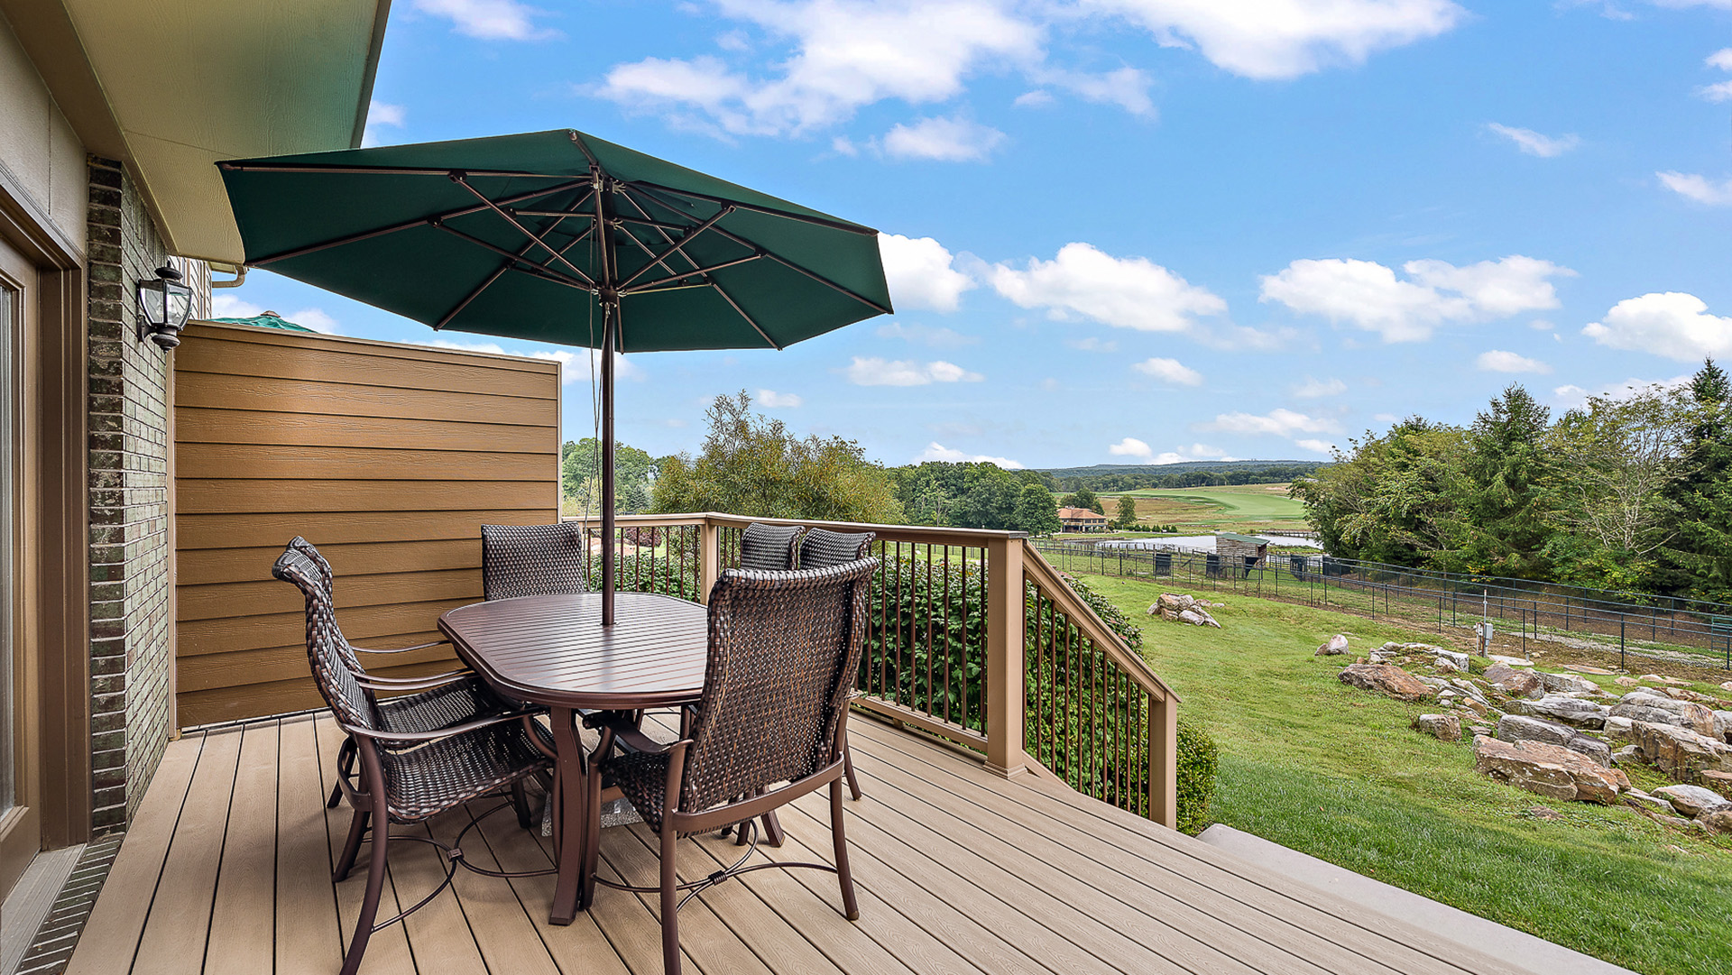
[[[1677,660],[1732,670],[1732,604],[1647,597],[1618,599],[1519,578],[1429,571],[1325,554],[1271,554],[1223,565],[1197,549],[1129,549],[1088,542],[1034,546],[1063,571],[1171,578],[1192,589],[1230,589],[1251,596],[1341,608],[1408,623],[1469,627],[1481,618],[1512,639],[1576,637],[1616,649],[1621,658]],[[1614,642],[1616,641],[1616,642]]]

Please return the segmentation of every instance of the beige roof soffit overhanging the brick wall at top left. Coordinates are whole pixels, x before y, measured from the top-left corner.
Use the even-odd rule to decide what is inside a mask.
[[[55,95],[92,151],[120,142],[170,251],[237,263],[215,163],[359,145],[390,0],[38,0],[24,7],[42,16],[23,17],[5,7],[21,35],[31,24],[19,21],[45,24],[26,42],[38,68],[81,55],[87,71],[61,62],[43,76],[59,88],[61,74],[71,97]]]

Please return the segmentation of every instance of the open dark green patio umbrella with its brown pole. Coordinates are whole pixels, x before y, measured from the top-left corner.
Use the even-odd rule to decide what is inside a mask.
[[[218,166],[248,267],[435,329],[615,352],[786,348],[890,313],[876,230],[582,132]],[[601,404],[610,539],[611,355]]]

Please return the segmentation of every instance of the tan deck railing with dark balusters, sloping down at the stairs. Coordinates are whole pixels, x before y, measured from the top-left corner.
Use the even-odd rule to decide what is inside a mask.
[[[1176,824],[1178,696],[1018,532],[622,514],[618,585],[701,601],[752,521],[876,533],[857,707]]]

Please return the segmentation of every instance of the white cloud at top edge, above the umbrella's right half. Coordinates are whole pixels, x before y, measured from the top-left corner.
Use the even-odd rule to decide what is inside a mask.
[[[724,0],[724,14],[792,40],[779,74],[748,78],[714,57],[646,57],[608,71],[598,95],[738,135],[798,135],[878,100],[949,100],[999,64],[1034,64],[1041,28],[994,0]],[[695,113],[695,114],[693,114]]]

